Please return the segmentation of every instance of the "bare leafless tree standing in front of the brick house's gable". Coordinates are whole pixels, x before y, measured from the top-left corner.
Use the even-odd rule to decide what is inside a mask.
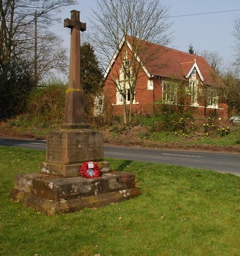
[[[144,64],[153,62],[157,56],[149,50],[148,42],[166,45],[171,40],[168,10],[158,0],[97,0],[91,41],[104,68],[113,54],[119,53],[122,69],[116,72],[115,78],[107,79],[112,80],[122,96],[124,123],[131,122],[134,91],[143,61]],[[123,83],[119,82],[120,76]],[[129,109],[127,96],[130,96]]]

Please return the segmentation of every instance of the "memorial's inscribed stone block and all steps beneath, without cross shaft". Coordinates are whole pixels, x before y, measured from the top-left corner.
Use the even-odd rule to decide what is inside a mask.
[[[53,215],[118,203],[140,195],[134,174],[109,172],[109,162],[103,161],[101,132],[62,128],[47,136],[47,156],[41,164],[41,173],[15,177],[10,193],[13,200]],[[97,163],[101,177],[80,176],[80,167],[88,160]]]

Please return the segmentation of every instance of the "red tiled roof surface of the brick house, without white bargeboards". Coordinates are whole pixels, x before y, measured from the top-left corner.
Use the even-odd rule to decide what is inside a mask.
[[[131,39],[131,37],[128,37],[130,44]],[[146,41],[144,41],[144,47],[148,49],[149,54],[146,56],[146,53],[144,53],[143,58],[139,57],[142,59],[143,66],[153,76],[187,81],[188,79],[185,76],[190,72],[196,61],[204,79],[203,84],[216,85],[216,81],[218,81],[218,84],[220,82],[218,75],[202,56],[181,52],[180,50]]]

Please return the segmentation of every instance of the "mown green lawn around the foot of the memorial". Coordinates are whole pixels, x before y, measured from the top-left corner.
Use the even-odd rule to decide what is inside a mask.
[[[142,195],[47,216],[11,202],[14,176],[38,172],[45,151],[0,147],[0,255],[240,255],[240,177],[110,160]]]

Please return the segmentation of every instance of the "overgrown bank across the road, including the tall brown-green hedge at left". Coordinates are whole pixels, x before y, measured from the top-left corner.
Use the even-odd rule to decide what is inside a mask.
[[[47,133],[60,129],[66,88],[59,82],[35,88],[23,114],[0,121],[0,136],[46,139]],[[92,129],[103,132],[105,143],[240,152],[240,126],[214,115],[194,120],[192,111],[176,112],[167,106],[155,117],[136,115],[131,125],[125,125],[122,118],[113,117],[110,111],[103,117],[92,117],[93,97],[85,94],[86,120]]]

